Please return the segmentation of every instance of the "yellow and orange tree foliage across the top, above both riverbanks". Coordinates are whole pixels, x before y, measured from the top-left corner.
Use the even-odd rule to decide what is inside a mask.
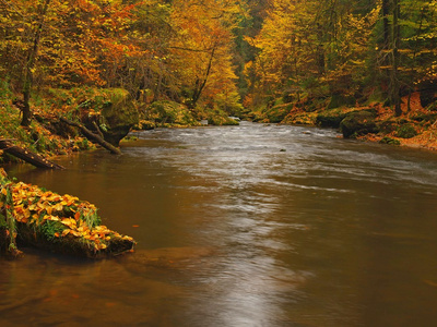
[[[229,113],[332,95],[397,109],[433,99],[436,22],[437,0],[0,0],[0,72],[24,125],[32,93],[83,85]]]

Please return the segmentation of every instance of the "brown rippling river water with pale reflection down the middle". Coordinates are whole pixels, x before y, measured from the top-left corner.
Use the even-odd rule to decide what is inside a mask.
[[[138,245],[0,259],[0,326],[435,326],[437,154],[247,122],[134,136],[7,169]]]

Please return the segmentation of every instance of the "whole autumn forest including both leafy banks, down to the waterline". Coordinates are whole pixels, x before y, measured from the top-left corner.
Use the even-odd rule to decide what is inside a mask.
[[[228,117],[394,144],[434,135],[436,0],[1,0],[0,12],[0,132],[36,152],[93,146],[66,121],[114,146],[132,128]]]

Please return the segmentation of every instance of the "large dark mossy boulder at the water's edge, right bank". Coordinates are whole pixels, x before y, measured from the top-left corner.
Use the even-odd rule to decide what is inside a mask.
[[[345,138],[355,138],[368,133],[377,133],[375,110],[359,110],[350,112],[340,123],[340,130]]]

